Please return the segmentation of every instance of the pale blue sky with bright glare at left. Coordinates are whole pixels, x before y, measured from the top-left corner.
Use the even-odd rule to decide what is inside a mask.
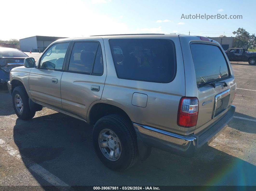
[[[15,8],[16,7],[16,8]],[[217,37],[239,27],[256,33],[256,1],[70,0],[2,1],[0,40],[29,36],[176,33]],[[242,19],[183,19],[185,15],[242,15]]]

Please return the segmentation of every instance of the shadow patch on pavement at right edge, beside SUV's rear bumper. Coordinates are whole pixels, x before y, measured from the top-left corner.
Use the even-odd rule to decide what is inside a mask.
[[[248,115],[238,113],[238,112],[235,112],[234,116],[256,120],[255,117],[248,116]],[[256,128],[255,128],[256,122],[255,121],[233,118],[232,121],[228,124],[228,126],[233,129],[239,130],[239,131],[256,134]]]

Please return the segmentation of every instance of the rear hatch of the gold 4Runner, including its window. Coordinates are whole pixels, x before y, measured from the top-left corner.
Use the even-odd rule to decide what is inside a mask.
[[[197,97],[199,112],[194,134],[219,120],[232,105],[236,84],[230,62],[216,41],[180,35],[186,96]]]

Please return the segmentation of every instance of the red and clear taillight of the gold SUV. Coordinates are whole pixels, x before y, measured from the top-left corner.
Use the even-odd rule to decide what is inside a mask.
[[[179,101],[177,124],[182,127],[196,125],[198,116],[198,99],[196,97],[182,97]]]

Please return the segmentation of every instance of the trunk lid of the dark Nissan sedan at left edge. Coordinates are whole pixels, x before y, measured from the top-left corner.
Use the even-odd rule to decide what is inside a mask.
[[[4,72],[10,72],[13,68],[24,65],[25,58],[3,57],[0,58],[0,68]]]

